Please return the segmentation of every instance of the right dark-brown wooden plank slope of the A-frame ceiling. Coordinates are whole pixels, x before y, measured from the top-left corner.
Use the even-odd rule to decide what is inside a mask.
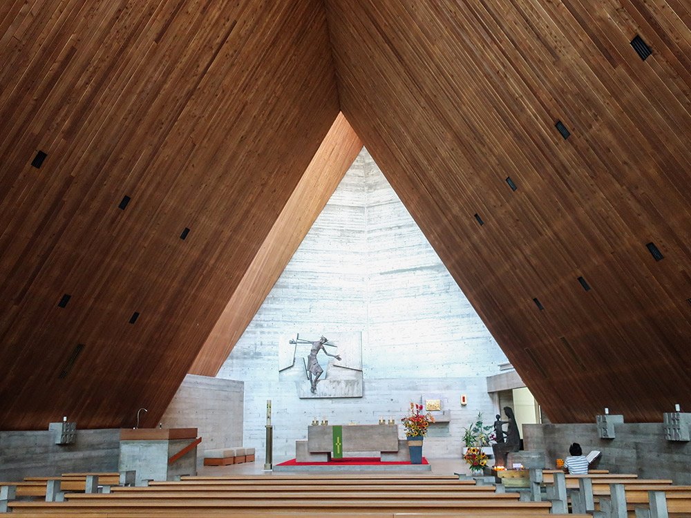
[[[325,4],[341,110],[550,419],[691,406],[688,6]]]

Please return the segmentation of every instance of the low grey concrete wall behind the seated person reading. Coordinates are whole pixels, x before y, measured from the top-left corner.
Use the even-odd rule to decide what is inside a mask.
[[[636,473],[645,479],[672,479],[691,484],[691,443],[666,441],[662,423],[615,425],[614,439],[599,439],[596,425],[525,425],[527,450],[544,450],[548,467],[565,459],[571,443],[580,443],[583,452],[603,452],[598,468],[614,473]]]

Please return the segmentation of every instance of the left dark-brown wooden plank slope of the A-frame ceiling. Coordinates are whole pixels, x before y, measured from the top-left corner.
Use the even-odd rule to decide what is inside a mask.
[[[3,2],[0,428],[158,423],[338,113],[321,0]]]

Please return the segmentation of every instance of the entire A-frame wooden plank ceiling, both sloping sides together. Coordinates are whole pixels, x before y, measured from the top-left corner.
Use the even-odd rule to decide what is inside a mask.
[[[551,419],[689,407],[690,50],[679,0],[3,2],[0,429],[158,422],[354,133]]]

